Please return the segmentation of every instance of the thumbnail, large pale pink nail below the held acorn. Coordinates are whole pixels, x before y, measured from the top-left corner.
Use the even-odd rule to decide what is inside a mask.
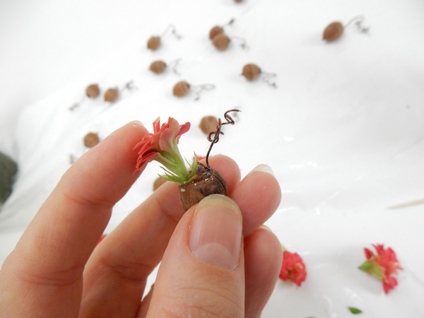
[[[242,213],[228,196],[212,194],[196,206],[189,232],[189,249],[195,257],[224,269],[239,265]]]

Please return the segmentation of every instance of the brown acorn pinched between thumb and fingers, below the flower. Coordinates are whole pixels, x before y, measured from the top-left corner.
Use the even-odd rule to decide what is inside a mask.
[[[227,183],[218,171],[199,163],[196,175],[189,181],[178,184],[179,201],[184,211],[198,204],[201,199],[211,194],[228,196]]]

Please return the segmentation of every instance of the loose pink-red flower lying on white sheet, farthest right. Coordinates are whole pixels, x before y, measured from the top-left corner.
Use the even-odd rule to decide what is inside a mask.
[[[370,273],[377,279],[382,281],[384,293],[389,293],[397,285],[397,280],[392,275],[397,273],[398,269],[402,269],[401,264],[396,259],[394,250],[390,247],[384,249],[384,245],[372,245],[375,247],[377,254],[365,247],[365,257],[367,260],[359,267],[360,270]]]

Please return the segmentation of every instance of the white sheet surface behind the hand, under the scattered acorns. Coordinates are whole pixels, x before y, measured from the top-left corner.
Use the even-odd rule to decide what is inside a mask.
[[[105,137],[139,119],[192,122],[182,153],[204,154],[196,127],[207,114],[240,107],[235,126],[215,153],[235,158],[242,174],[266,163],[281,183],[283,199],[267,223],[281,243],[307,266],[300,288],[278,282],[264,317],[424,316],[424,205],[388,209],[424,198],[424,2],[407,1],[1,1],[0,150],[18,161],[15,191],[0,213],[1,261],[69,167],[69,154],[86,151],[89,130]],[[367,34],[351,25],[332,43],[325,26],[363,15]],[[233,40],[218,52],[208,40],[214,25],[230,18]],[[151,35],[173,23],[157,52]],[[155,76],[155,59],[182,58],[181,76]],[[242,66],[276,73],[278,88],[249,83]],[[114,105],[83,98],[89,83],[122,87]],[[213,83],[215,90],[182,99],[180,80]],[[25,108],[26,107],[26,108]],[[25,110],[21,112],[23,109]],[[111,230],[151,193],[159,168],[151,164],[114,211]],[[404,270],[399,285],[382,285],[357,267],[363,247],[392,247]]]

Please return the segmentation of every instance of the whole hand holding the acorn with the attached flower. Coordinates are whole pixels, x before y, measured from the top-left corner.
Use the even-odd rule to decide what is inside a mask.
[[[126,124],[61,177],[1,268],[2,317],[260,317],[282,262],[262,225],[281,199],[265,165],[240,180],[237,164],[215,155],[230,198],[208,196],[184,213],[166,182],[96,247],[141,175],[132,148],[146,132]]]

